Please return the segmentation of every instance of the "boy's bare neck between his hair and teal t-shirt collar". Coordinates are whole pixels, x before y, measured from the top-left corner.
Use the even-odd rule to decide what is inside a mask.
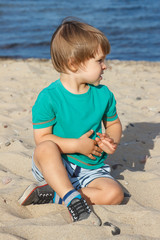
[[[81,80],[76,76],[76,73],[61,73],[60,80],[63,86],[73,94],[83,94],[89,89],[88,84],[82,83]]]

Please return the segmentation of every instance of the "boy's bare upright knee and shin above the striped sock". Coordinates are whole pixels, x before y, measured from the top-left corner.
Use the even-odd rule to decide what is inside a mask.
[[[40,143],[35,149],[34,161],[46,182],[61,198],[74,189],[63,165],[59,148],[54,142]]]

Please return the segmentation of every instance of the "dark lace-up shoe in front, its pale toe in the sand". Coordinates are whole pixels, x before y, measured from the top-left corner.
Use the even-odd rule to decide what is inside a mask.
[[[85,199],[74,198],[68,206],[73,222],[87,225],[101,225],[101,220],[91,211]]]

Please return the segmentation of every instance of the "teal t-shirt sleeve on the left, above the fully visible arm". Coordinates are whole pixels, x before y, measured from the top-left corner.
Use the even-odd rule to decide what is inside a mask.
[[[47,91],[42,91],[32,108],[33,129],[53,126],[56,123],[53,102]]]

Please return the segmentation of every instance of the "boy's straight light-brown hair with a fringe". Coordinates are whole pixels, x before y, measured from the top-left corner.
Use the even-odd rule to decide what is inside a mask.
[[[109,54],[109,41],[101,31],[80,21],[65,19],[52,36],[50,50],[53,66],[64,73],[67,69],[71,70],[70,61],[79,67],[94,58],[99,46],[104,55]]]

